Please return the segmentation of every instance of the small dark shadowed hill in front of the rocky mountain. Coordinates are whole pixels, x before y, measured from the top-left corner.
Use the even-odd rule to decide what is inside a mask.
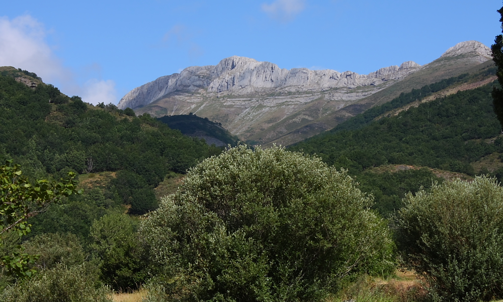
[[[177,129],[182,134],[202,138],[207,144],[216,146],[237,145],[238,138],[225,130],[218,123],[202,118],[195,114],[163,116],[157,118],[171,129]]]

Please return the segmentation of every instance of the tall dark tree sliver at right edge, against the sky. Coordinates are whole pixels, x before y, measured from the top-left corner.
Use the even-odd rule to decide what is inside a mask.
[[[503,32],[503,7],[497,11],[501,18],[501,29]],[[498,82],[501,87],[503,87],[503,35],[497,35],[494,39],[494,44],[491,45],[492,59],[496,64],[497,71],[496,75],[498,77]],[[503,126],[503,90],[498,87],[494,87],[492,90],[492,99],[494,104],[494,113],[496,113],[499,123]]]

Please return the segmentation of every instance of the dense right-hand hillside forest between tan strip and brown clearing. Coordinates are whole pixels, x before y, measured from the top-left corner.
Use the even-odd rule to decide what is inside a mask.
[[[324,133],[290,149],[353,171],[407,164],[473,175],[472,162],[503,151],[492,86],[458,92],[358,130]]]

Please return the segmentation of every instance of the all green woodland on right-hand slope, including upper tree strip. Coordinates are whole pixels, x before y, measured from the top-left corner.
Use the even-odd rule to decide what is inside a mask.
[[[375,196],[374,208],[384,216],[402,206],[407,192],[430,188],[434,182],[460,177],[459,173],[462,179],[490,174],[501,181],[503,138],[490,95],[495,84],[419,104],[432,92],[450,89],[470,77],[462,75],[404,93],[288,149],[316,154],[329,165],[348,169],[361,189]],[[387,114],[410,102],[417,107]],[[405,168],[376,169],[383,165]]]

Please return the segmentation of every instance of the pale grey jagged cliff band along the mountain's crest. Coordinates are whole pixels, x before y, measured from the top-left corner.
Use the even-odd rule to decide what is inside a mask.
[[[119,102],[119,108],[138,108],[174,92],[231,93],[250,95],[285,88],[289,91],[322,91],[332,88],[378,86],[390,80],[400,80],[420,68],[414,62],[381,68],[370,74],[351,71],[309,70],[307,68],[282,69],[270,62],[232,56],[216,66],[192,66],[181,73],[160,77],[137,87]]]

